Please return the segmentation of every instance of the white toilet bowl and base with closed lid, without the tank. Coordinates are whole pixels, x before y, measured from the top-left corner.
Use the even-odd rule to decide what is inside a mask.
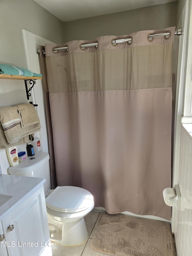
[[[46,198],[51,241],[79,245],[88,237],[84,216],[94,207],[93,196],[83,188],[57,187]]]

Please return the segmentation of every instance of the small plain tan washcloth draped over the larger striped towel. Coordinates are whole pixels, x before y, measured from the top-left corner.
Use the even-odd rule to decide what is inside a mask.
[[[21,120],[21,128],[40,123],[37,111],[32,104],[20,104],[16,107]]]

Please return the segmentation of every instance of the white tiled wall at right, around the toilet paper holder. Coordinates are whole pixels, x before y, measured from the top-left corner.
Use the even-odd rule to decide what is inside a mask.
[[[192,133],[181,125],[178,138],[176,180],[179,184],[182,200],[184,192],[192,194]],[[192,199],[192,198],[191,198]],[[192,206],[192,201],[190,201]],[[189,207],[190,208],[190,207]],[[174,234],[178,256],[192,255],[192,209],[175,210]]]

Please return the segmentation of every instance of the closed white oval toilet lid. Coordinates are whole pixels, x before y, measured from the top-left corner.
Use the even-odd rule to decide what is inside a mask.
[[[93,203],[93,196],[89,191],[72,186],[57,187],[46,198],[47,207],[58,212],[80,212]]]

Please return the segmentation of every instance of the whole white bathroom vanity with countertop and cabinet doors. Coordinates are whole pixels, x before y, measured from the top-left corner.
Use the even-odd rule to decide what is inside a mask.
[[[45,179],[0,176],[0,255],[52,256]]]

